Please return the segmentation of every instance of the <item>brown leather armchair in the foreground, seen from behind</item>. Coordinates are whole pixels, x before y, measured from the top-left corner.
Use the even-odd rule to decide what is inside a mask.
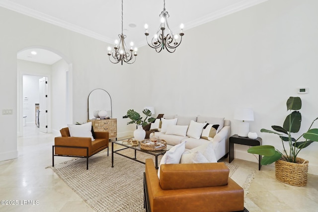
[[[244,191],[223,163],[161,164],[146,159],[146,212],[248,212]]]

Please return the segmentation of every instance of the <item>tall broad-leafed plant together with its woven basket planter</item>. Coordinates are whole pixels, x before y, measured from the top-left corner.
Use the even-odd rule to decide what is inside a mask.
[[[301,127],[302,115],[298,111],[301,107],[302,100],[300,97],[289,97],[287,100],[289,115],[286,117],[283,127],[273,125],[272,129],[274,131],[260,130],[262,133],[278,135],[283,144],[282,152],[272,145],[253,146],[247,150],[248,153],[263,155],[262,165],[275,162],[276,178],[294,186],[305,186],[307,184],[309,162],[297,157],[297,155],[303,148],[314,141],[318,141],[318,129],[311,129],[318,118],[313,121],[307,132],[302,133],[297,139],[294,138],[293,133],[298,133]],[[285,144],[288,145],[288,148]],[[297,169],[299,171],[296,171]]]

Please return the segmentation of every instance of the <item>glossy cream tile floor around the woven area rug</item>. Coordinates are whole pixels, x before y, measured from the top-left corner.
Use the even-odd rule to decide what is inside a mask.
[[[38,132],[35,126],[26,126],[24,131],[24,137],[18,138],[19,157],[0,161],[0,200],[17,201],[17,205],[1,204],[0,212],[93,212],[48,168],[54,136]],[[55,162],[69,159],[55,157]],[[232,163],[258,167],[239,159]],[[318,176],[309,175],[306,187],[294,187],[277,181],[273,166],[263,166],[251,183],[245,207],[250,212],[317,212]]]

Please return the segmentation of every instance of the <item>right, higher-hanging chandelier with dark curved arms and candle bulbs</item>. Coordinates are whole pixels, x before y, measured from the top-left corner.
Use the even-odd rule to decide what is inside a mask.
[[[147,43],[150,47],[156,49],[156,52],[161,52],[162,49],[166,49],[168,52],[173,53],[175,49],[180,45],[182,41],[183,33],[183,24],[180,25],[181,32],[179,33],[180,36],[180,42],[178,41],[179,36],[173,35],[172,31],[169,28],[167,18],[169,17],[169,13],[165,10],[165,0],[163,0],[163,10],[159,14],[159,17],[161,17],[160,26],[158,31],[156,32],[155,36],[151,39],[151,43],[148,42],[148,25],[145,24],[146,28],[146,39]]]

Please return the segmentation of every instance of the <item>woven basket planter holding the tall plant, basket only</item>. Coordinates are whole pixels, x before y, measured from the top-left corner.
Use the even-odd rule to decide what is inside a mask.
[[[308,160],[296,157],[297,163],[291,163],[281,158],[275,162],[277,180],[292,186],[306,186],[308,175]]]

